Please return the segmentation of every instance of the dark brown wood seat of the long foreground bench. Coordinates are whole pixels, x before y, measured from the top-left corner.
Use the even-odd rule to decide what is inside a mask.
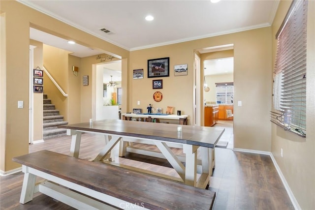
[[[148,209],[209,210],[215,192],[120,167],[41,150],[14,161]]]

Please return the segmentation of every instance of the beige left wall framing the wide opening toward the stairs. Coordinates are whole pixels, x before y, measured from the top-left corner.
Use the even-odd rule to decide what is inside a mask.
[[[129,52],[15,0],[1,0],[0,8],[1,17],[5,16],[5,30],[2,30],[1,27],[1,45],[3,41],[5,50],[3,51],[1,47],[1,54],[4,55],[0,56],[1,78],[2,71],[5,71],[3,73],[5,89],[1,88],[0,94],[1,102],[5,103],[5,106],[1,106],[2,112],[5,108],[5,114],[1,113],[1,129],[5,129],[5,134],[3,135],[1,132],[0,170],[10,171],[21,166],[13,162],[12,157],[29,152],[29,110],[26,106],[24,109],[17,109],[17,101],[23,100],[24,104],[29,104],[29,80],[26,78],[29,78],[30,26],[64,39],[71,37],[76,43],[109,52],[114,56],[128,58]],[[44,80],[44,82],[46,81]],[[2,86],[3,83],[1,80],[0,85]],[[5,94],[2,94],[3,90],[5,90]],[[87,99],[88,97],[85,97],[83,100]]]

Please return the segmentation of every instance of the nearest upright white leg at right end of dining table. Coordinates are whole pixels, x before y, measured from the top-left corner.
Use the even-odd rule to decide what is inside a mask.
[[[183,145],[186,154],[185,184],[196,186],[197,178],[197,146]]]

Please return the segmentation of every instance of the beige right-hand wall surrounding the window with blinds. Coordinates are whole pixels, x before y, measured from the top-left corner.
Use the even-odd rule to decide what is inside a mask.
[[[291,1],[281,1],[272,25],[273,63],[276,55],[276,32],[280,28]],[[271,152],[285,180],[303,210],[315,209],[315,1],[308,1],[307,28],[307,98],[306,139],[272,125]],[[283,157],[281,157],[283,149]]]

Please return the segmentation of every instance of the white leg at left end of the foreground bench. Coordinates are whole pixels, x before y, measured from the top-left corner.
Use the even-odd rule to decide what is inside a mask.
[[[24,180],[22,185],[20,203],[25,204],[33,200],[36,176],[28,172],[27,166],[22,166]]]

